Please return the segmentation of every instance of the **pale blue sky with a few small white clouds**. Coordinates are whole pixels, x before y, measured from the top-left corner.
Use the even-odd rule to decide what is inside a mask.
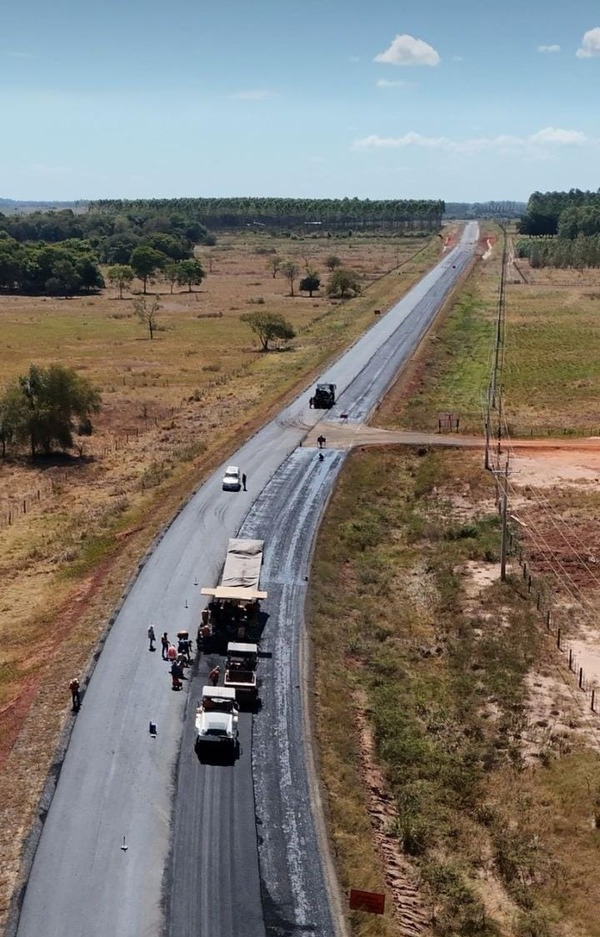
[[[5,0],[0,197],[600,187],[597,0]]]

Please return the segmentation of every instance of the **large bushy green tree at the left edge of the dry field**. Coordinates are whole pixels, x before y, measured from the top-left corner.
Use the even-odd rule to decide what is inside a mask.
[[[73,448],[73,433],[92,430],[91,416],[101,406],[99,391],[73,368],[32,364],[29,373],[7,387],[0,400],[2,441],[29,442],[32,458],[54,445]]]

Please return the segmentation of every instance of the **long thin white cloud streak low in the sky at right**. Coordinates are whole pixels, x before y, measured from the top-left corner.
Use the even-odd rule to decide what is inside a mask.
[[[543,147],[581,146],[589,142],[591,142],[589,138],[579,130],[560,130],[555,127],[546,127],[528,137],[501,134],[497,137],[474,137],[470,140],[425,137],[414,132],[405,133],[401,137],[379,137],[377,134],[371,134],[368,137],[355,140],[352,148],[355,150],[378,150],[405,149],[414,146],[427,150],[443,150],[447,153],[475,153],[492,149],[539,152]]]

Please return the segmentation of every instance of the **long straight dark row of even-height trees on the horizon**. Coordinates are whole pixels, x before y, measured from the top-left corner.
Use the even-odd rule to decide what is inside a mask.
[[[441,226],[444,202],[432,199],[182,198],[101,199],[94,215],[190,214],[211,231],[245,227],[318,232],[352,229],[429,232]]]

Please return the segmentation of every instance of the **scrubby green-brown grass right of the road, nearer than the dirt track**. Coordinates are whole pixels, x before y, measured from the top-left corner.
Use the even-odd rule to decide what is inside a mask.
[[[439,935],[595,933],[600,760],[571,739],[544,751],[527,674],[551,653],[517,582],[497,581],[490,482],[459,453],[355,452],[319,535],[311,581],[317,733],[344,887],[386,880],[360,756],[364,707],[393,801],[386,838],[420,882]],[[393,906],[393,910],[392,910]]]

